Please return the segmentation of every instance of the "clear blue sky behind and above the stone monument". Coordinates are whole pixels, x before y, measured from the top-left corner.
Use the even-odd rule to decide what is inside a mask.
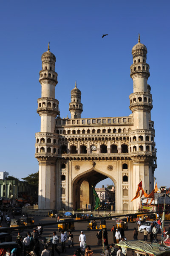
[[[40,131],[38,79],[48,41],[57,59],[61,117],[70,116],[75,80],[82,91],[82,117],[128,116],[133,92],[131,49],[140,32],[150,65],[158,157],[155,176],[158,186],[169,187],[169,10],[166,0],[1,1],[0,171],[20,179],[38,171],[34,158],[35,133]]]

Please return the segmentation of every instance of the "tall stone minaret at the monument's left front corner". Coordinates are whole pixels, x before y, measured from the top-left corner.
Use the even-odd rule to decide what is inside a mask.
[[[48,51],[41,57],[40,71],[41,98],[38,109],[41,117],[41,130],[36,134],[36,154],[39,162],[39,201],[40,209],[55,209],[56,159],[58,153],[58,134],[55,133],[56,116],[59,115],[59,102],[55,99],[57,73],[56,57]]]

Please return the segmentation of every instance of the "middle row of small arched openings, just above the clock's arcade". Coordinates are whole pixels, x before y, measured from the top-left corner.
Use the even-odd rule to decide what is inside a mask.
[[[128,131],[130,131],[131,129],[129,128],[128,129]],[[95,134],[95,133],[121,133],[121,132],[123,132],[123,133],[125,133],[125,132],[127,132],[127,129],[126,128],[124,128],[123,130],[121,129],[121,128],[119,128],[118,130],[116,130],[116,129],[113,129],[113,130],[111,130],[111,129],[108,129],[108,130],[106,130],[106,129],[102,129],[102,130],[100,130],[100,129],[97,129],[97,131],[95,130],[95,129],[93,129],[92,131],[90,130],[90,129],[88,129],[87,131],[85,131],[84,129],[82,130],[82,134],[85,134],[85,133],[87,133],[87,134],[90,134],[90,133],[92,133],[92,134]],[[59,134],[59,130],[57,130],[56,131],[56,133],[57,134]],[[60,134],[66,134],[66,131],[65,130],[60,130]],[[71,130],[68,130],[67,131],[67,134],[71,134]],[[76,134],[76,130],[72,130],[72,134]],[[80,130],[77,130],[77,134],[81,134],[81,131]]]

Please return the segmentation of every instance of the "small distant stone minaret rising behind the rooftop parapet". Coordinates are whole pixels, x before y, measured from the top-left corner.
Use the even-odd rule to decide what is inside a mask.
[[[71,103],[69,103],[69,111],[71,118],[81,118],[82,103],[81,103],[81,91],[77,88],[77,83],[73,90],[71,90]]]

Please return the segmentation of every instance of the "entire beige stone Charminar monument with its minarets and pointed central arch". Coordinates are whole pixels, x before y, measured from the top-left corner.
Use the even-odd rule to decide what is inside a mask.
[[[36,133],[35,157],[39,163],[39,209],[78,209],[94,206],[91,183],[110,178],[115,186],[116,210],[137,210],[132,200],[142,180],[144,191],[154,188],[156,148],[147,48],[140,42],[132,48],[130,116],[81,118],[83,105],[77,84],[71,90],[71,118],[59,116],[55,99],[56,57],[42,54],[41,98],[37,113],[41,129]],[[87,92],[88,93],[88,92]],[[107,116],[107,115],[106,115]]]

